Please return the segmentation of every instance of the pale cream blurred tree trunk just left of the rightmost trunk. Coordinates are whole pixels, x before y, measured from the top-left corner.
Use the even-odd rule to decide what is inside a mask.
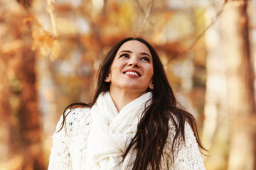
[[[214,8],[208,8],[205,21],[208,26],[215,16]],[[210,150],[206,157],[206,169],[226,169],[229,143],[229,118],[227,115],[227,86],[225,77],[225,59],[221,37],[221,23],[210,27],[206,38],[206,102],[204,107],[205,120],[203,123],[203,144]],[[223,146],[223,147],[220,147]]]

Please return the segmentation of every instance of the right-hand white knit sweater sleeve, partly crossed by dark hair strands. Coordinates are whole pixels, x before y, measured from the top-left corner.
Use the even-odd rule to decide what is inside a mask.
[[[198,149],[196,137],[193,134],[191,126],[185,123],[185,142],[181,145],[174,145],[174,160],[172,158],[171,146],[176,130],[174,126],[170,127],[169,137],[164,147],[164,156],[161,162],[163,169],[171,170],[205,170],[201,152]]]

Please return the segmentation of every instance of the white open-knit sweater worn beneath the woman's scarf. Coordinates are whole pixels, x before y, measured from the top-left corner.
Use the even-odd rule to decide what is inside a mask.
[[[60,123],[57,130],[60,128]],[[53,134],[53,147],[50,154],[49,170],[85,170],[87,169],[87,137],[90,132],[92,116],[90,108],[75,108],[66,118],[66,126],[60,132]],[[178,150],[175,147],[174,163],[171,163],[171,143],[175,134],[175,127],[170,121],[169,136],[164,147],[161,159],[162,169],[201,170],[205,169],[203,159],[198,149],[196,137],[193,135],[190,125],[185,125],[186,145],[181,145]],[[178,151],[178,152],[177,152]],[[136,157],[135,153],[129,153],[123,164],[129,164]]]

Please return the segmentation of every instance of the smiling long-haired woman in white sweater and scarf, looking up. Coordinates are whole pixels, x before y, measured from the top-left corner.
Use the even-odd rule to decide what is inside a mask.
[[[102,62],[91,103],[68,106],[48,169],[205,169],[196,120],[178,108],[163,65],[142,38]]]

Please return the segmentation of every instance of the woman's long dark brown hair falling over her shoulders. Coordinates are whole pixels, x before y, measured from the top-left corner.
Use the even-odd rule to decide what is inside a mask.
[[[145,109],[144,114],[137,125],[137,133],[132,139],[130,145],[127,147],[127,150],[124,153],[124,158],[132,148],[135,148],[137,149],[137,156],[133,162],[134,170],[147,169],[148,167],[155,170],[161,169],[161,157],[164,154],[164,145],[166,144],[166,139],[169,135],[170,121],[176,128],[174,140],[171,141],[171,153],[174,153],[175,143],[178,143],[179,145],[181,142],[186,142],[184,132],[186,122],[188,122],[188,124],[191,126],[191,129],[196,136],[198,147],[206,150],[198,136],[195,118],[193,118],[191,113],[188,113],[181,107],[178,107],[174,92],[171,89],[169,81],[166,77],[163,64],[159,59],[159,55],[157,55],[156,51],[149,44],[149,42],[146,42],[146,40],[142,38],[125,38],[112,47],[110,52],[107,53],[105,59],[102,61],[100,69],[97,72],[97,87],[95,95],[92,98],[92,102],[87,104],[73,103],[65,108],[65,111],[63,112],[63,123],[60,130],[65,125],[65,118],[68,115],[68,113],[65,113],[67,109],[71,110],[72,108],[78,107],[91,108],[97,101],[97,98],[102,91],[110,91],[110,83],[105,82],[105,78],[110,72],[110,67],[115,55],[117,54],[117,51],[119,50],[119,47],[121,47],[124,42],[129,40],[137,40],[144,43],[144,45],[149,48],[153,60],[154,74],[152,77],[152,82],[154,84],[154,89],[147,89],[147,91],[152,92],[151,105]],[[169,155],[169,157],[170,159],[174,159],[174,154]]]

